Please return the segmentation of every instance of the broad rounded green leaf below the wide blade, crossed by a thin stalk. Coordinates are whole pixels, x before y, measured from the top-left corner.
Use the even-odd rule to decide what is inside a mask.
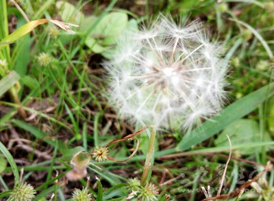
[[[262,142],[260,136],[260,126],[255,120],[240,119],[226,126],[225,129],[223,129],[223,132],[215,140],[217,147],[229,146],[227,135],[232,142],[232,147],[238,145],[240,146],[242,142],[245,142],[245,144]],[[268,136],[268,139],[265,139],[265,142],[271,141],[269,135],[266,136]],[[239,152],[242,155],[250,155],[257,150],[260,150],[260,147],[251,148],[245,146],[244,148],[239,149]]]

